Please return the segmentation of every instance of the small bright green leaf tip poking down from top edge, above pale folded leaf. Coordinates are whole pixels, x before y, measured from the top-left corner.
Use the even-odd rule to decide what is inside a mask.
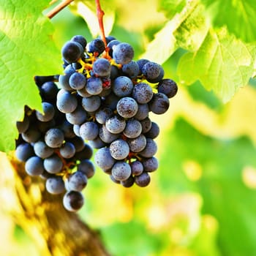
[[[177,12],[181,12],[186,6],[186,0],[161,0],[159,2],[159,11],[165,12],[167,18],[173,18]]]

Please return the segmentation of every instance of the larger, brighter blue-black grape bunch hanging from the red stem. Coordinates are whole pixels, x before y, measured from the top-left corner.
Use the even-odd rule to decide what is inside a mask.
[[[114,37],[72,37],[62,48],[64,75],[57,107],[76,135],[97,148],[96,164],[124,187],[146,187],[157,170],[159,126],[149,113],[162,114],[177,85],[161,65],[133,60],[134,50]]]

